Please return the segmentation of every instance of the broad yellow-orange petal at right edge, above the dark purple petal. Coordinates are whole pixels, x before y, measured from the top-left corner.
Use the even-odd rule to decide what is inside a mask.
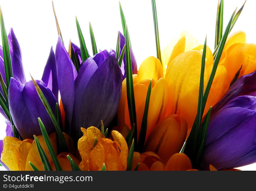
[[[223,66],[227,69],[230,81],[242,66],[239,77],[256,70],[256,44],[237,43],[226,50]]]

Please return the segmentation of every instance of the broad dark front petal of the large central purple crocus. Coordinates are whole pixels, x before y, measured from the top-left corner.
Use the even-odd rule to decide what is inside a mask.
[[[74,137],[81,137],[80,127],[100,127],[102,120],[107,127],[115,117],[122,90],[122,73],[111,53],[95,71],[85,90],[80,108],[74,110]],[[74,134],[75,133],[75,134]]]

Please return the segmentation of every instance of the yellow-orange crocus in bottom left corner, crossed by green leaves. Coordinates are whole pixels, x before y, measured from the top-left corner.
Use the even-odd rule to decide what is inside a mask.
[[[72,139],[65,133],[63,133],[63,135],[70,152],[63,152],[58,154],[57,159],[60,162],[63,170],[71,170],[70,163],[67,159],[67,154],[70,155],[70,157],[75,161],[75,163],[77,163],[77,165],[79,164],[79,161],[72,155],[72,153],[74,153],[74,143]],[[47,156],[51,168],[56,170],[43,136],[39,135],[37,138]],[[55,153],[57,153],[56,134],[50,134],[49,139]],[[33,163],[38,168],[38,170],[44,170],[38,149],[33,139],[24,139],[21,141],[15,137],[6,136],[3,139],[3,152],[1,153],[1,161],[3,161],[9,170],[33,170],[29,165],[29,161],[31,161],[31,163]],[[67,165],[67,163],[69,165]]]

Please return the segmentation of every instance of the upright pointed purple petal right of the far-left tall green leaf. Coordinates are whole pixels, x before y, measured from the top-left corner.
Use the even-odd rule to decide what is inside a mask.
[[[10,33],[8,34],[10,55],[12,61],[13,68],[13,77],[18,80],[20,83],[26,83],[26,77],[24,74],[23,66],[22,66],[22,55],[19,47],[19,43],[17,38],[13,32],[13,28],[10,29]]]

